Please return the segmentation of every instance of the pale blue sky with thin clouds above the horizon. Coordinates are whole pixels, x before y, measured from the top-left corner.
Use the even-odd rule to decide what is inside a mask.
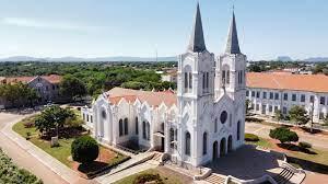
[[[196,0],[0,0],[0,58],[175,56],[186,50]],[[208,49],[223,51],[232,0],[200,0]],[[249,59],[328,56],[327,0],[236,0]]]

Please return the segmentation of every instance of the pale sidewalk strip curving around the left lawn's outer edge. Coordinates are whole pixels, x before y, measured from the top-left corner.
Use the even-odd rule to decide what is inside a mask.
[[[17,122],[17,120],[16,120]],[[12,126],[16,123],[12,122],[10,124],[7,124],[2,129],[1,133],[7,136],[9,139],[14,141],[17,146],[20,146],[23,150],[25,150],[27,153],[32,154],[34,158],[36,158],[39,162],[42,162],[44,165],[46,165],[49,170],[61,176],[65,181],[72,184],[86,184],[86,183],[95,183],[94,181],[89,181],[85,179],[80,177],[80,175],[59,162],[57,159],[52,158],[35,145],[33,145],[30,141],[26,141],[23,137],[17,135],[12,130]]]

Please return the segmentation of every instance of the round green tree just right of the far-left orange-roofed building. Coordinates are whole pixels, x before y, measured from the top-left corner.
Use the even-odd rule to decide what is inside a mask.
[[[85,84],[73,76],[65,76],[59,83],[60,94],[70,100],[82,97],[86,94]]]

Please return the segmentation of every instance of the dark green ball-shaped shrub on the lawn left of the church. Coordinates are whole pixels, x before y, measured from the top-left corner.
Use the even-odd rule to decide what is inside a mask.
[[[99,147],[95,139],[82,136],[75,139],[71,146],[71,154],[74,161],[80,163],[93,162],[99,153]]]

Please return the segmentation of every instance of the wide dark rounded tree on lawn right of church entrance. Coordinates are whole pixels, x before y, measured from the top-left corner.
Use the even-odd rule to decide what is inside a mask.
[[[272,139],[278,139],[281,143],[298,141],[298,136],[295,131],[291,131],[285,127],[271,129],[269,136]]]

